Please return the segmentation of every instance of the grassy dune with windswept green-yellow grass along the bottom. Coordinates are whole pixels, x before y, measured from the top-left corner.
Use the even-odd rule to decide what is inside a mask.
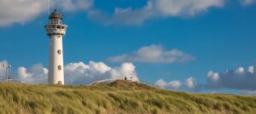
[[[256,97],[189,94],[117,81],[94,86],[0,83],[0,113],[256,113]]]

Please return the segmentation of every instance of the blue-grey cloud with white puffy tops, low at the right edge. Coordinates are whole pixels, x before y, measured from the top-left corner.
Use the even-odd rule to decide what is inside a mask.
[[[256,90],[254,66],[249,66],[247,71],[243,67],[239,67],[235,71],[226,70],[221,73],[209,71],[207,77],[210,81],[201,84],[201,88],[203,89],[230,88],[250,91]]]

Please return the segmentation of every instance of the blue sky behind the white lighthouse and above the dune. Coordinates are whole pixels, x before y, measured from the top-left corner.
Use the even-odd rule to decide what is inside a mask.
[[[63,5],[65,2],[56,5],[57,0],[51,1],[51,9],[57,6],[65,14],[64,23],[68,26],[63,40],[65,65],[81,61],[87,65],[90,61],[95,61],[118,69],[123,63],[129,62],[136,67],[135,72],[140,81],[155,83],[163,79],[166,88],[176,89],[172,86],[173,80],[176,80],[181,83],[180,86],[176,83],[179,87],[177,89],[185,91],[194,90],[186,87],[186,79],[189,77],[194,78],[194,84],[205,86],[211,81],[207,77],[208,71],[218,72],[219,79],[222,79],[221,77],[225,77],[222,74],[227,69],[236,72],[237,68],[243,67],[247,71],[248,66],[255,66],[254,0],[191,0],[183,2],[184,5],[176,4],[173,0],[85,0],[80,5],[79,0],[66,1],[71,2],[70,6]],[[165,1],[166,6],[160,7],[160,3]],[[150,2],[152,8],[147,9]],[[27,8],[29,2],[0,2],[2,5],[9,5],[9,9],[20,9],[0,8],[0,61],[8,60],[12,64],[13,75],[19,75],[17,69],[21,66],[29,69],[39,63],[42,67],[48,67],[49,38],[44,30],[48,18],[47,5],[44,3],[41,3],[42,8],[32,9],[33,7]],[[164,7],[166,9],[162,9]],[[38,11],[30,14],[28,10]],[[174,10],[177,12],[172,12]],[[11,14],[18,14],[22,18]],[[152,59],[142,57],[136,59],[141,54],[138,52],[140,48],[152,49],[154,46],[164,52],[177,49],[194,59],[172,62],[167,59],[153,59],[153,62]],[[122,54],[126,58],[109,60]],[[29,74],[29,71],[32,70],[26,73]],[[243,83],[246,80],[234,84]],[[203,91],[235,94],[249,91],[252,94],[254,88],[224,85],[196,92]]]

